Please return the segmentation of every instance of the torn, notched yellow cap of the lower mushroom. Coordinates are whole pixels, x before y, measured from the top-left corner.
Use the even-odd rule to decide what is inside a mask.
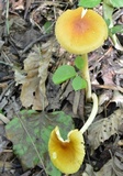
[[[56,127],[49,138],[48,152],[53,164],[65,174],[76,173],[85,158],[83,136],[78,130],[71,130],[64,141]]]

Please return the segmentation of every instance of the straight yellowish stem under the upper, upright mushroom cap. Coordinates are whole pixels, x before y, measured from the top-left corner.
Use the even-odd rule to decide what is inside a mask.
[[[87,80],[87,89],[86,89],[86,98],[87,100],[91,99],[91,82],[90,82],[90,75],[88,68],[88,54],[82,54],[82,59],[85,62],[85,66],[81,70],[82,77]]]

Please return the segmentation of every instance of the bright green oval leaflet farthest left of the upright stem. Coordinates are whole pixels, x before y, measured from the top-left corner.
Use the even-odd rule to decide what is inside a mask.
[[[63,65],[53,75],[54,84],[58,85],[76,76],[76,70],[70,65]]]

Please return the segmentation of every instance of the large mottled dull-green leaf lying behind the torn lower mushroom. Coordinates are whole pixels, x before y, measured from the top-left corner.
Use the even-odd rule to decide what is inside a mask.
[[[13,118],[7,124],[7,138],[12,141],[13,152],[21,161],[24,169],[34,168],[37,164],[42,165],[43,163],[47,175],[62,175],[51,163],[48,155],[49,135],[56,125],[59,127],[65,139],[68,132],[74,129],[72,119],[63,111],[40,113],[26,110],[20,112],[19,118]]]

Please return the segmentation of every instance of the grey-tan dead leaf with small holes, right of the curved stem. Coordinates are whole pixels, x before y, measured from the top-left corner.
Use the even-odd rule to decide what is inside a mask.
[[[88,129],[88,139],[92,150],[96,150],[111,135],[118,133],[120,125],[123,123],[122,114],[123,109],[119,109],[114,111],[110,117],[101,119],[90,125],[90,128]]]

